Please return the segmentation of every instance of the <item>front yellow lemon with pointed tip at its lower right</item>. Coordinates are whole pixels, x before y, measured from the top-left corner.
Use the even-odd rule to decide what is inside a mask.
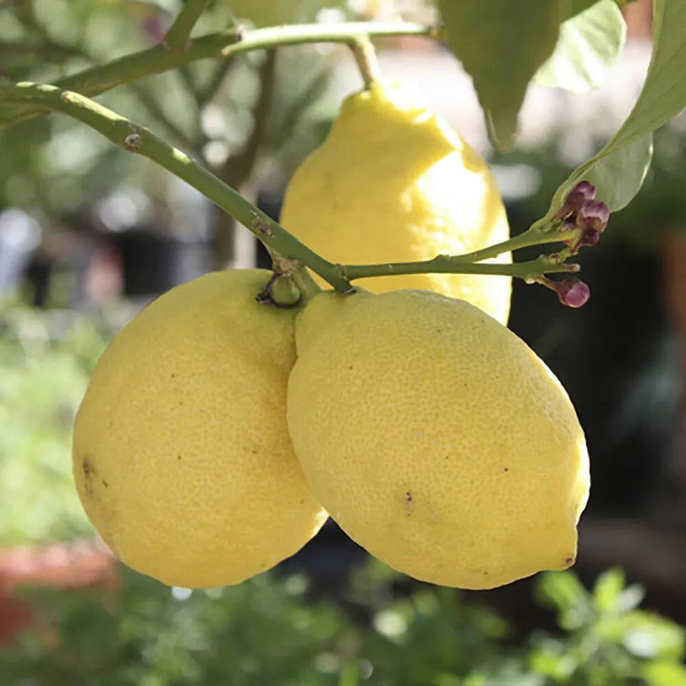
[[[575,561],[585,438],[509,329],[429,291],[318,294],[299,315],[288,422],[315,497],[399,572],[468,589]]]

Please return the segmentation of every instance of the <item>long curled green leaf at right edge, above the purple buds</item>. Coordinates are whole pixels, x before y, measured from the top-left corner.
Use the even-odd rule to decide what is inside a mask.
[[[639,191],[652,155],[652,131],[686,107],[686,0],[655,0],[652,59],[636,104],[612,139],[557,189],[539,227],[552,219],[576,182],[601,182],[597,197],[622,209]]]

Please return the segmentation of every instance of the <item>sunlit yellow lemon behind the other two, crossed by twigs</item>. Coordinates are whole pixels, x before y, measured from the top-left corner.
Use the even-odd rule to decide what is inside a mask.
[[[509,237],[487,163],[399,84],[377,84],[344,101],[324,144],[289,182],[281,222],[340,264],[422,261]],[[490,262],[510,260],[508,252]],[[412,274],[355,283],[373,292],[431,289],[503,324],[509,314],[509,277]]]

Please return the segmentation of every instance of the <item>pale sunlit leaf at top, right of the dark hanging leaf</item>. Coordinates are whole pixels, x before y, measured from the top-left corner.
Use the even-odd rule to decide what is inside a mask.
[[[620,56],[627,25],[614,0],[600,0],[560,24],[555,52],[536,72],[540,86],[585,93],[600,86]]]

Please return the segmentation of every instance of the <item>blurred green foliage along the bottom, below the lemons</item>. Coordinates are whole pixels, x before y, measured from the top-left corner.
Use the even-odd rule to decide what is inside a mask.
[[[0,649],[4,686],[681,686],[682,627],[637,610],[642,592],[610,570],[591,591],[572,572],[540,575],[559,629],[523,643],[488,607],[448,588],[394,591],[373,562],[344,602],[307,577],[169,588],[121,570],[100,593],[24,590],[40,624]],[[483,596],[485,598],[487,596]],[[356,616],[358,619],[353,620]],[[359,617],[367,620],[359,620]]]

